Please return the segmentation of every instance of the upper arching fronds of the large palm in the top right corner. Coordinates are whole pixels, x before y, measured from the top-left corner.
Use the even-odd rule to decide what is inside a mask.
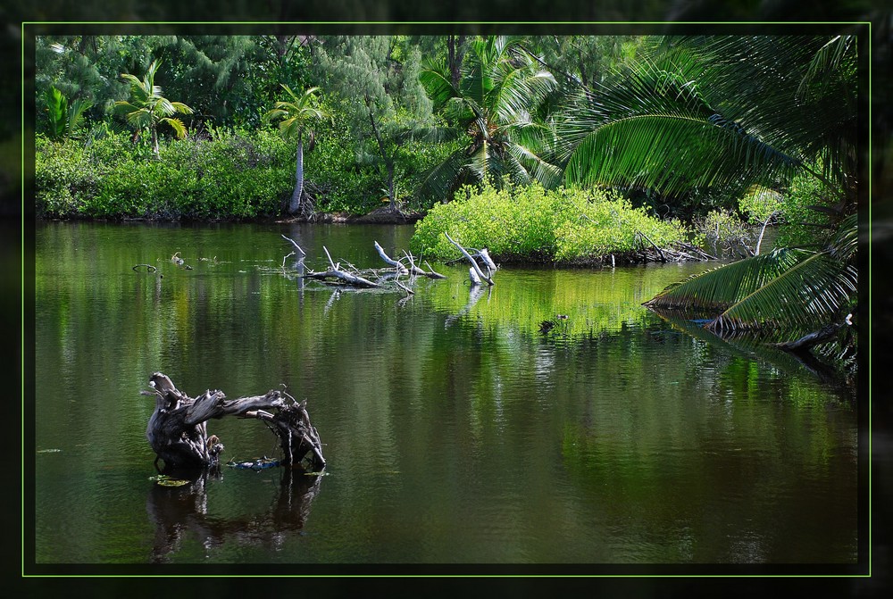
[[[661,38],[561,129],[565,181],[674,194],[808,172],[853,202],[856,66],[854,37]]]

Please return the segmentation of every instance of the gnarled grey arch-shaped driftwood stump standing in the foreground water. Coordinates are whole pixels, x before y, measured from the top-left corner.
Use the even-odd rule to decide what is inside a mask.
[[[266,422],[280,439],[283,464],[296,465],[307,457],[314,470],[326,465],[306,400],[298,403],[276,389],[230,401],[222,391],[208,390],[193,399],[161,372],[152,375],[149,386],[154,391],[142,393],[155,397],[155,411],[149,418],[146,437],[158,456],[156,464],[159,459],[169,468],[203,468],[219,463],[223,444],[216,435],[208,436],[207,421],[233,415]]]

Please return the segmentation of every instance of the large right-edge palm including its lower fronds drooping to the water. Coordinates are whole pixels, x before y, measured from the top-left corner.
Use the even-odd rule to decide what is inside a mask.
[[[819,179],[830,235],[672,285],[652,308],[706,309],[714,331],[804,329],[855,303],[853,37],[669,37],[564,129],[565,180],[680,193]]]

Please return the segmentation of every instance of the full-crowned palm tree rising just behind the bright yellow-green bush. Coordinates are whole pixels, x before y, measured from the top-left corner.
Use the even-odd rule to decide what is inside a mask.
[[[458,86],[446,60],[428,63],[419,79],[435,112],[467,135],[467,143],[428,173],[421,196],[448,200],[464,184],[490,177],[499,185],[506,175],[518,184],[560,181],[561,170],[544,157],[550,129],[536,118],[555,78],[538,67],[521,38],[472,40]]]

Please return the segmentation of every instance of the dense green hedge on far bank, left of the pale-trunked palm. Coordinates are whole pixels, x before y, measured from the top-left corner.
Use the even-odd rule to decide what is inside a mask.
[[[161,148],[95,131],[83,145],[38,137],[37,212],[49,218],[252,219],[280,211],[291,148],[272,131],[213,130]]]

